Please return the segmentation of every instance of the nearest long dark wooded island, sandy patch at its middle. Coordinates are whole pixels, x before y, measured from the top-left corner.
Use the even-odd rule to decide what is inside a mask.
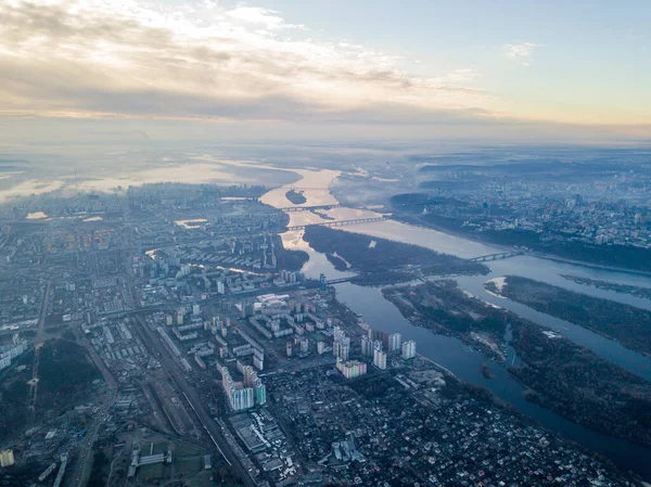
[[[413,324],[458,336],[501,362],[498,367],[505,367],[502,350],[510,344],[520,362],[508,371],[527,387],[527,400],[591,430],[651,446],[651,384],[643,379],[470,296],[450,280],[386,287],[383,294]]]

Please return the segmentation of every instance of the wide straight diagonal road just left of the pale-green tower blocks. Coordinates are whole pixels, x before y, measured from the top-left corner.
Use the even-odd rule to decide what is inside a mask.
[[[194,387],[191,387],[181,375],[180,366],[169,355],[167,348],[161,341],[158,333],[151,330],[141,317],[138,316],[136,319],[140,323],[140,326],[137,326],[137,332],[139,333],[142,343],[146,348],[149,348],[152,356],[158,359],[161,367],[165,370],[165,372],[167,372],[169,377],[171,377],[177,390],[180,392],[188,400],[208,436],[210,436],[217,444],[216,446],[220,450],[224,458],[232,465],[235,474],[242,478],[246,486],[255,487],[255,482],[251,478],[248,472],[240,462],[239,457],[233,452],[231,446],[224,437],[221,428],[206,409],[205,401],[199,397],[194,390]]]

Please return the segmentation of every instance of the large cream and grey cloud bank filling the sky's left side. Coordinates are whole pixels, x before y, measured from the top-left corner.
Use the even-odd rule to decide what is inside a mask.
[[[294,33],[299,37],[288,37]],[[401,59],[305,38],[276,11],[207,0],[0,2],[0,116],[218,120],[487,117],[472,68],[414,77]]]

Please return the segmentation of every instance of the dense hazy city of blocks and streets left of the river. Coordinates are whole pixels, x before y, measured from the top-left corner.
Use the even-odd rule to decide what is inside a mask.
[[[5,214],[9,485],[630,485],[304,275],[263,192],[145,185]],[[469,343],[503,361],[481,326]]]

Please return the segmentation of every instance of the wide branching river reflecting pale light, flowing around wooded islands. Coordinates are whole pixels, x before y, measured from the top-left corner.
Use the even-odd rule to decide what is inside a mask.
[[[337,171],[303,169],[296,172],[303,179],[296,182],[295,185],[306,188],[303,190],[304,196],[307,200],[305,203],[294,205],[286,200],[285,193],[291,185],[269,191],[261,197],[261,201],[276,207],[337,204],[336,198],[328,190],[330,183],[339,176]],[[346,207],[333,208],[322,213],[337,220],[378,216],[372,210]],[[320,216],[311,212],[291,212],[288,215],[290,216],[290,225],[292,226],[324,221]],[[459,236],[392,220],[344,227],[343,230],[422,245],[437,252],[463,258],[488,255],[500,251],[499,248]],[[309,260],[303,268],[303,272],[307,277],[318,278],[320,273],[324,273],[329,279],[352,275],[350,272],[335,270],[323,254],[314,251],[303,240],[303,231],[285,232],[282,239],[288,248],[302,249],[309,254]],[[507,274],[523,275],[572,291],[651,310],[651,302],[648,299],[579,285],[561,278],[560,274],[580,275],[646,287],[651,287],[650,277],[565,264],[532,256],[519,256],[511,259],[493,261],[489,262],[489,275],[458,278],[459,285],[481,299],[507,308],[523,318],[553,329],[574,343],[592,350],[595,354],[640,375],[647,381],[651,381],[650,359],[589,330],[535,311],[510,299],[493,296],[484,290],[483,285],[485,281],[496,277]],[[579,443],[592,451],[604,454],[622,470],[633,470],[642,475],[647,480],[651,480],[651,462],[649,462],[649,459],[651,459],[651,448],[637,446],[623,439],[593,432],[567,421],[548,409],[526,401],[522,395],[524,387],[507,372],[505,367],[492,363],[490,368],[495,377],[484,377],[481,372],[481,364],[486,362],[487,359],[483,354],[473,350],[457,338],[436,335],[427,330],[414,326],[401,316],[391,302],[384,299],[379,289],[363,287],[352,283],[336,284],[335,289],[337,299],[345,303],[353,311],[362,315],[365,321],[372,328],[384,332],[399,332],[405,339],[416,339],[420,354],[449,369],[459,379],[487,387],[497,397],[509,402],[523,414],[536,420],[545,427],[560,433],[563,437]],[[512,348],[509,348],[509,350],[513,355]],[[509,357],[508,363],[513,359],[514,357]]]

